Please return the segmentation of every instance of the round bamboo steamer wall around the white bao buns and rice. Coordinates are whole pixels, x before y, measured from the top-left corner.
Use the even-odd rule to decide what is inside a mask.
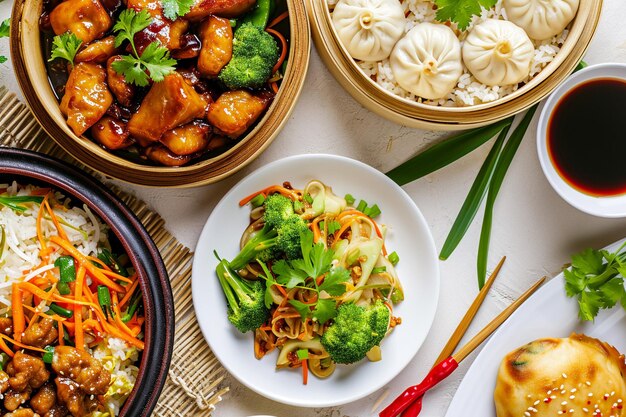
[[[327,0],[306,1],[317,51],[333,76],[356,101],[398,124],[448,131],[494,123],[522,112],[545,98],[572,73],[585,55],[602,10],[602,0],[580,0],[561,51],[535,78],[517,91],[491,103],[436,107],[399,97],[374,82],[341,44]]]

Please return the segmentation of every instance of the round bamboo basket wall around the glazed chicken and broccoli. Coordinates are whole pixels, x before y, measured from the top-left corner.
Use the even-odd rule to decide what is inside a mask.
[[[42,53],[39,16],[43,0],[16,0],[11,16],[11,58],[26,102],[43,129],[78,161],[125,182],[154,187],[191,187],[219,181],[261,154],[278,135],[298,99],[306,76],[311,38],[304,0],[288,0],[290,38],[285,77],[254,129],[227,151],[183,167],[142,165],[104,150],[67,126],[52,91]]]

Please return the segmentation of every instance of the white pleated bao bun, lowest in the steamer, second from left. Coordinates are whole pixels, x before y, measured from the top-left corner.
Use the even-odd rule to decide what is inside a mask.
[[[391,52],[391,71],[400,87],[428,100],[445,97],[463,73],[461,44],[449,27],[420,23]]]

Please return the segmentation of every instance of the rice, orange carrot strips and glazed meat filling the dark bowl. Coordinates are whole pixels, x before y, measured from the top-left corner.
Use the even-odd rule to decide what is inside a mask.
[[[137,274],[87,206],[47,188],[0,190],[0,379],[27,400],[54,393],[37,415],[116,416],[144,349]],[[25,366],[39,376],[13,384]]]

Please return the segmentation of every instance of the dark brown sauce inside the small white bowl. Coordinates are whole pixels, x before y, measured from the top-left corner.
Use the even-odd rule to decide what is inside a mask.
[[[626,194],[626,80],[588,81],[561,98],[548,124],[548,152],[577,190]]]

